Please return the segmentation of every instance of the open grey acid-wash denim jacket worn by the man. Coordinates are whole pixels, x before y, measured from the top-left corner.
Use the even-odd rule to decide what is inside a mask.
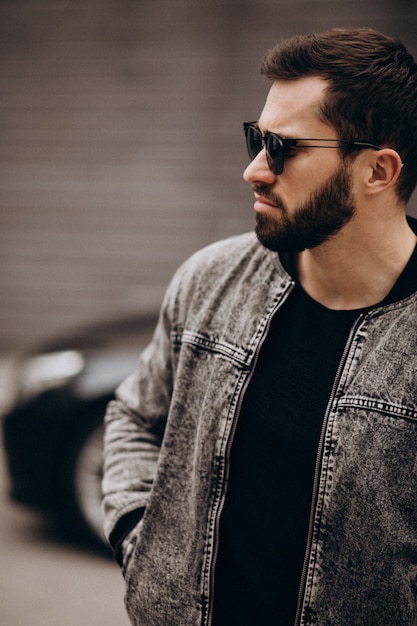
[[[174,276],[151,344],[109,405],[107,535],[146,507],[123,564],[132,624],[211,623],[233,433],[292,288],[253,234],[199,251]],[[417,624],[416,329],[414,294],[351,330],[323,420],[297,625]]]

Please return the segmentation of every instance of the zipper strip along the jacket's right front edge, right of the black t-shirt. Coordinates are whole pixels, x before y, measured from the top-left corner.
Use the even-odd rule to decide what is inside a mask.
[[[342,372],[346,363],[347,355],[352,346],[353,338],[356,334],[356,331],[359,325],[362,323],[362,320],[364,317],[365,316],[363,314],[360,315],[350,330],[349,337],[345,344],[342,357],[339,361],[339,365],[336,371],[336,376],[333,381],[332,390],[330,393],[329,401],[327,403],[327,408],[324,414],[323,424],[321,427],[320,439],[319,439],[319,444],[318,444],[318,449],[317,449],[316,466],[314,470],[314,482],[313,482],[313,492],[312,492],[312,497],[311,497],[310,520],[308,524],[307,544],[306,544],[306,550],[304,554],[303,569],[301,571],[301,580],[300,580],[300,587],[298,591],[298,601],[297,601],[297,612],[295,616],[294,626],[300,626],[300,623],[301,623],[301,611],[303,607],[304,593],[305,593],[305,587],[306,587],[306,582],[307,582],[308,563],[309,563],[310,551],[311,551],[311,547],[313,543],[313,526],[314,526],[316,505],[317,505],[317,500],[318,500],[321,462],[323,458],[324,438],[325,438],[326,430],[327,430],[327,422],[329,419],[330,409],[333,404],[334,398],[336,396],[336,391],[339,386]]]

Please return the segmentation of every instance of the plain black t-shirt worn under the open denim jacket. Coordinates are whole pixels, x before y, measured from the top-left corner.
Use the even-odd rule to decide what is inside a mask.
[[[384,304],[416,290],[414,251]],[[323,417],[363,311],[327,309],[296,283],[272,320],[232,445],[213,626],[294,624]]]

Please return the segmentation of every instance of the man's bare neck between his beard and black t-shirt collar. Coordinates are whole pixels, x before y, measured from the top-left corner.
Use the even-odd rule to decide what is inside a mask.
[[[327,242],[299,253],[296,267],[304,290],[329,309],[351,310],[381,302],[407,265],[416,235],[405,215],[358,230],[345,226]]]

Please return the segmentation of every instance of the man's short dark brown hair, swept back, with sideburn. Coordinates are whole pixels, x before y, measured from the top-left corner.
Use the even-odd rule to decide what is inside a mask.
[[[417,65],[399,40],[369,28],[299,35],[267,52],[261,74],[328,80],[324,119],[341,139],[395,149],[405,164],[396,191],[408,201],[417,183]]]

